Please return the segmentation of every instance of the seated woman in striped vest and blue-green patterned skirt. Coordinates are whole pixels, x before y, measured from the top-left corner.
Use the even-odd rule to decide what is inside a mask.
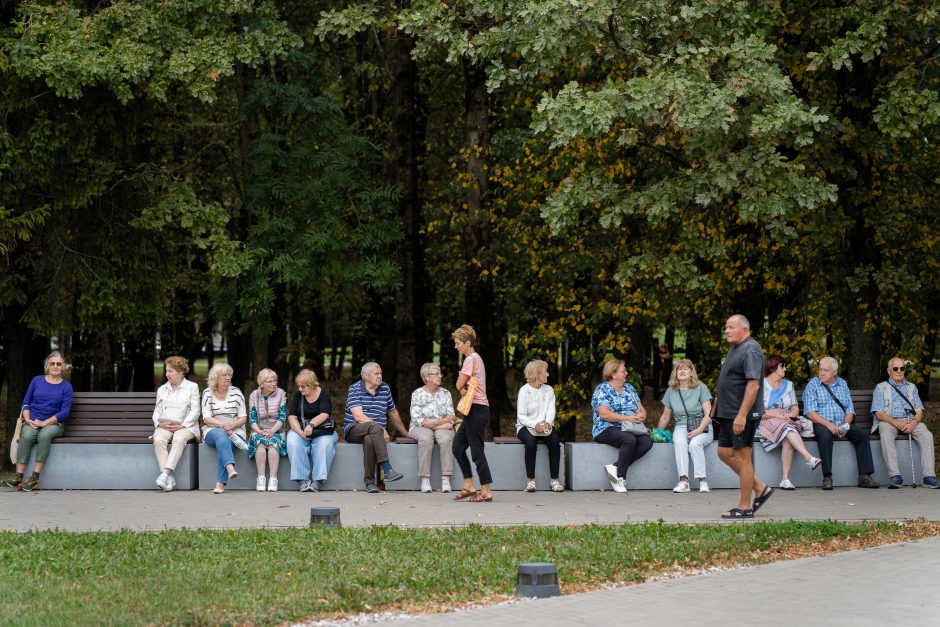
[[[277,492],[277,469],[281,457],[287,455],[287,442],[281,435],[287,422],[287,392],[278,387],[277,373],[270,368],[262,368],[257,380],[258,388],[248,396],[248,457],[258,469],[255,490]],[[271,470],[268,477],[265,462]]]

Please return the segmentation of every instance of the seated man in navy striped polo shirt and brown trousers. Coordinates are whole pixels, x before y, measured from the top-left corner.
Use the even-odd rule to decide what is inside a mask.
[[[363,481],[366,491],[376,494],[379,492],[375,478],[376,465],[382,467],[386,483],[404,477],[388,461],[386,443],[391,439],[388,422],[391,421],[404,436],[408,435],[408,431],[395,408],[392,388],[382,381],[381,366],[373,361],[363,364],[361,375],[359,381],[349,386],[343,429],[347,442],[362,444]]]

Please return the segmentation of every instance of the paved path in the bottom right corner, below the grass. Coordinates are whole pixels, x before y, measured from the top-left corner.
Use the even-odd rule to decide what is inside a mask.
[[[938,575],[940,538],[930,538],[394,624],[923,627],[940,625]],[[744,608],[737,617],[730,598]]]

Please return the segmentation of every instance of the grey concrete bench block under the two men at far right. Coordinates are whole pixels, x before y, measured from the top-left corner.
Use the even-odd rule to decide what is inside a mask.
[[[819,457],[819,445],[816,440],[803,440],[806,450],[811,455]],[[896,440],[894,443],[898,451],[898,466],[904,483],[911,482],[911,455],[906,440]],[[888,467],[881,454],[881,442],[871,440],[871,457],[875,465],[875,479],[881,485],[888,483]],[[798,488],[818,488],[822,486],[822,466],[810,470],[803,459],[794,453],[793,466],[790,469],[790,481]],[[780,483],[783,472],[780,461],[780,447],[769,453],[764,451],[760,443],[754,443],[754,470],[761,479],[772,486]],[[923,481],[920,467],[920,447],[914,442],[914,473],[918,482]],[[855,447],[851,442],[833,442],[832,446],[832,485],[837,487],[855,486],[858,484],[858,463],[855,460]]]

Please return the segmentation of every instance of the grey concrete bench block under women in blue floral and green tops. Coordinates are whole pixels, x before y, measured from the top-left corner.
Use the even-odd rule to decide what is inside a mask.
[[[565,461],[569,489],[611,489],[604,465],[617,463],[617,449],[614,447],[597,442],[568,442],[565,444]],[[718,445],[714,442],[705,449],[705,468],[709,487],[739,486],[738,476],[718,459]],[[627,472],[627,488],[631,490],[671,490],[677,480],[676,456],[669,443],[654,443],[650,452]],[[690,484],[693,490],[698,489],[698,481],[694,477]]]

